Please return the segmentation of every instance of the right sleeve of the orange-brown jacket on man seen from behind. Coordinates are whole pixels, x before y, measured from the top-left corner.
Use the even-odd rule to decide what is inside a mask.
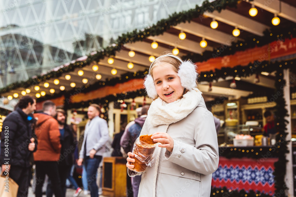
[[[49,141],[52,145],[52,148],[55,150],[55,152],[60,153],[61,152],[61,142],[60,142],[60,133],[59,133],[59,126],[58,123],[55,122],[55,120],[49,120],[51,121],[49,124]]]

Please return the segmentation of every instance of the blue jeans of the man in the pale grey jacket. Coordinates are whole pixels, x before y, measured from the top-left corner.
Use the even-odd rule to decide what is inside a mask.
[[[96,176],[101,160],[102,156],[96,156],[93,159],[86,158],[84,162],[91,197],[99,197],[98,185],[96,185]]]

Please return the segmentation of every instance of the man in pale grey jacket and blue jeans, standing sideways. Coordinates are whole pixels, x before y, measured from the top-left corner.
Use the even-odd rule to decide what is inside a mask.
[[[91,104],[88,108],[87,115],[90,121],[85,126],[84,139],[77,161],[79,166],[84,161],[91,197],[99,196],[96,175],[105,152],[104,145],[109,139],[108,124],[99,117],[100,112],[101,108],[97,104]]]

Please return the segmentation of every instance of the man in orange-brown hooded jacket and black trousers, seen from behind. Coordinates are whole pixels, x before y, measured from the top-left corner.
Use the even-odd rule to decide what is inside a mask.
[[[52,190],[56,197],[62,197],[61,180],[58,172],[58,161],[61,152],[59,126],[52,116],[56,106],[52,101],[43,103],[43,113],[36,113],[35,133],[38,139],[38,150],[34,153],[36,164],[36,197],[42,197],[42,185],[47,174],[52,181]]]

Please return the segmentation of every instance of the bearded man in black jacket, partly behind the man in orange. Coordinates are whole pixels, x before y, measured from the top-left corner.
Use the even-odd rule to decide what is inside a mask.
[[[62,185],[62,196],[66,196],[66,180],[70,175],[71,166],[73,164],[73,153],[75,150],[75,139],[73,138],[73,132],[66,124],[66,112],[62,109],[56,110],[54,118],[59,123],[60,142],[62,145],[60,159],[57,162],[59,167],[59,176]],[[78,194],[81,192],[78,192]],[[46,196],[51,197],[53,195],[51,189],[51,183],[47,185]],[[78,196],[78,195],[77,195]]]

